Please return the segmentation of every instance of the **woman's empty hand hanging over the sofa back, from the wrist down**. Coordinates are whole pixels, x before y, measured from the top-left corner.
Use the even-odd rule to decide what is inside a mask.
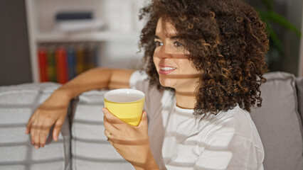
[[[70,98],[63,91],[57,90],[31,115],[26,127],[26,134],[31,133],[31,144],[35,145],[36,149],[46,145],[46,137],[53,125],[53,140],[58,141],[69,102]]]

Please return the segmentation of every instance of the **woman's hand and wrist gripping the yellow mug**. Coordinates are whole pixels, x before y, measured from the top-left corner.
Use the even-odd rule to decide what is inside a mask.
[[[132,126],[112,115],[107,108],[104,113],[105,136],[113,147],[136,169],[159,169],[149,146],[147,113],[142,114],[138,126]]]

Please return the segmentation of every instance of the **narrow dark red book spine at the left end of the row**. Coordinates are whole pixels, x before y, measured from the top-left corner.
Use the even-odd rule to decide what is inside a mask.
[[[46,49],[41,48],[38,50],[38,63],[39,63],[39,74],[40,74],[40,81],[46,82],[48,80],[48,73],[47,73],[47,55]]]

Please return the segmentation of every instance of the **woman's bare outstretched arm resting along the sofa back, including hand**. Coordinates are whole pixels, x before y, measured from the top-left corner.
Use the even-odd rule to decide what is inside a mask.
[[[90,69],[55,90],[28,120],[26,134],[31,133],[31,143],[38,149],[44,147],[50,128],[54,125],[53,139],[58,140],[70,99],[84,91],[102,88],[128,88],[133,70]]]

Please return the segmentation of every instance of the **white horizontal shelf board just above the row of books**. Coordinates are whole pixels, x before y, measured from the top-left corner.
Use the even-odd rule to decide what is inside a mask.
[[[114,40],[134,40],[139,33],[120,33],[115,31],[102,31],[97,33],[39,33],[36,42],[105,42]]]

